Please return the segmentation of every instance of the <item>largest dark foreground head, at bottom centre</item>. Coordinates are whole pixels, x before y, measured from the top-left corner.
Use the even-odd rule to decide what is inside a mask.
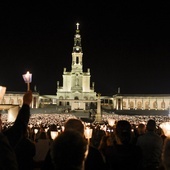
[[[51,158],[56,170],[82,170],[86,158],[87,141],[75,130],[58,135],[51,146]]]

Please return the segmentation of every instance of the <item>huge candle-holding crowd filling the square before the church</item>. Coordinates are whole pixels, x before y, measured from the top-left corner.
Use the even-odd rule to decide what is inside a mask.
[[[170,121],[168,116],[103,114],[101,124],[69,113],[31,114],[31,101],[28,91],[15,122],[1,115],[2,170],[170,169],[170,138],[160,127]],[[86,128],[93,130],[89,139]]]

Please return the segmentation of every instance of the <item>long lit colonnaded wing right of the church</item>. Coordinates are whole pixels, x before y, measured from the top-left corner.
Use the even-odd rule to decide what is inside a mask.
[[[121,94],[101,96],[102,108],[125,113],[164,113],[169,115],[170,94]],[[160,112],[161,111],[161,112]],[[117,112],[118,113],[118,112]],[[120,112],[121,113],[121,112]]]

